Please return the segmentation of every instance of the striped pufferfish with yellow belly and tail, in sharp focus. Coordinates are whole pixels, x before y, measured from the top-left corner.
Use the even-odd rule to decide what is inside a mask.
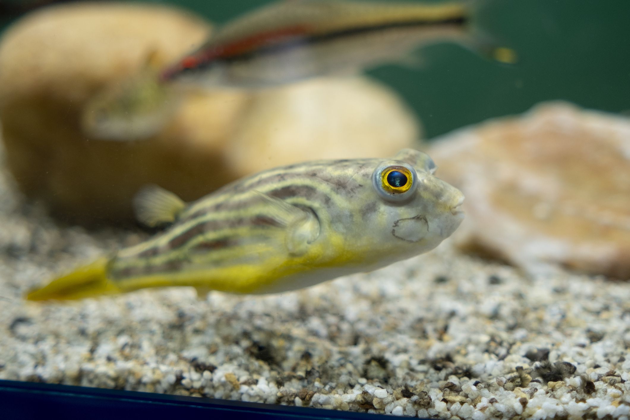
[[[168,227],[28,293],[77,299],[147,287],[278,293],[425,253],[463,219],[462,193],[423,152],[312,161],[263,171],[185,204],[140,191],[141,222]]]

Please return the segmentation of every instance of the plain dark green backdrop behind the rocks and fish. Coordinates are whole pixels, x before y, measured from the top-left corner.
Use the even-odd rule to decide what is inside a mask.
[[[176,4],[224,23],[269,2],[154,3]],[[442,44],[423,49],[421,67],[384,65],[369,72],[404,97],[420,116],[427,137],[491,116],[520,113],[549,99],[607,111],[630,110],[629,0],[476,3],[476,24],[516,50],[517,64],[491,62],[458,45]]]

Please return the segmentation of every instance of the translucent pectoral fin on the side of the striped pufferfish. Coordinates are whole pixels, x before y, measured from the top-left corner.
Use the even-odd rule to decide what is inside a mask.
[[[261,200],[270,207],[270,214],[281,227],[284,227],[284,244],[291,256],[301,256],[319,237],[321,226],[314,212],[287,203],[280,198],[256,191]]]

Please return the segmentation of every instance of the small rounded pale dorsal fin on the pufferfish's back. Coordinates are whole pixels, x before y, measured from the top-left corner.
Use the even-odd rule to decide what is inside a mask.
[[[171,191],[149,185],[134,197],[134,212],[138,221],[149,227],[175,222],[186,203]]]

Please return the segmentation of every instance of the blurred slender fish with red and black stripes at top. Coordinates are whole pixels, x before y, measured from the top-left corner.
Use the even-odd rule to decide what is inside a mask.
[[[265,87],[403,60],[426,43],[484,51],[470,2],[278,1],[237,18],[163,72],[196,86]],[[481,48],[479,48],[481,47]]]

